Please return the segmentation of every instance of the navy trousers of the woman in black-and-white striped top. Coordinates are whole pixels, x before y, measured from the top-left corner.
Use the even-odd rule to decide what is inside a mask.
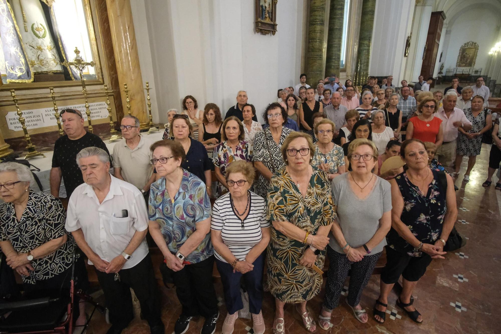
[[[240,281],[243,281],[249,296],[250,313],[259,314],[263,302],[263,268],[265,266],[265,252],[254,261],[253,270],[241,274],[238,271],[233,273],[233,268],[226,262],[216,259],[217,270],[221,274],[222,286],[224,289],[224,302],[229,314],[243,308],[240,294]]]

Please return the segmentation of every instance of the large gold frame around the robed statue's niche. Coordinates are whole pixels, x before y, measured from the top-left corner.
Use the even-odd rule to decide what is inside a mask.
[[[102,85],[104,84],[104,79],[103,79],[103,71],[101,67],[101,59],[99,57],[99,52],[98,52],[98,47],[97,47],[97,41],[96,41],[96,31],[94,30],[94,20],[92,17],[92,11],[91,11],[91,5],[90,5],[91,0],[82,0],[82,3],[84,5],[84,14],[85,14],[85,21],[87,24],[87,32],[89,33],[89,41],[91,45],[91,50],[92,50],[92,58],[94,62],[96,63],[95,69],[96,69],[96,80],[86,80],[87,85]],[[72,60],[74,58],[74,55],[68,55],[70,57],[69,60]],[[67,61],[69,61],[67,59]],[[71,73],[71,72],[70,72]],[[40,89],[40,88],[49,88],[49,87],[73,87],[73,86],[80,86],[80,80],[78,81],[48,81],[48,82],[26,82],[26,83],[10,83],[10,84],[4,84],[0,80],[0,91],[6,91],[6,90],[11,90],[11,89]]]

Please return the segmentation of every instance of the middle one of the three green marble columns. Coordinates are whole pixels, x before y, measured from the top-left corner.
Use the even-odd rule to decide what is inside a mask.
[[[327,36],[327,55],[325,76],[336,73],[339,76],[341,67],[341,44],[343,42],[344,0],[331,0],[329,10],[329,30]]]

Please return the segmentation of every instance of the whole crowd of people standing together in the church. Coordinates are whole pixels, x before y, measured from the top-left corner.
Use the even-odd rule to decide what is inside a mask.
[[[164,258],[164,280],[174,283],[182,306],[176,334],[198,315],[205,318],[201,333],[214,333],[214,262],[227,309],[225,334],[243,308],[242,285],[255,333],[266,329],[264,290],[275,298],[274,333],[285,332],[288,303],[308,331],[317,324],[328,329],[350,269],[345,301],[367,322],[360,299],[383,252],[373,319],[385,321],[388,295],[402,276],[397,305],[422,322],[412,292],[431,261],[444,258],[462,158],[468,157],[467,182],[482,135],[490,134],[483,78],[464,88],[456,78],[444,94],[429,92],[432,78],[420,77],[414,89],[403,80],[398,92],[392,76],[381,86],[371,76],[360,92],[336,74],[316,89],[306,79],[302,74],[298,85],[279,90],[263,112],[264,125],[243,90],[224,119],[216,104],[198,109],[187,95],[181,113],[168,110],[156,142],[127,115],[111,154],[85,130],[80,111],[63,110],[66,135],[54,147],[51,195],[32,189],[27,166],[0,163],[0,247],[25,291],[59,289],[76,253],[80,288],[88,284],[84,257],[94,266],[112,323],[108,333],[120,333],[133,318],[130,288],[151,332],[163,333],[149,231],[150,246]],[[492,140],[484,187],[501,161],[499,119]],[[398,156],[399,166],[385,168]],[[62,179],[66,193],[60,194]],[[326,256],[325,296],[314,319],[307,304],[320,293]],[[77,315],[77,325],[85,322],[83,309]]]

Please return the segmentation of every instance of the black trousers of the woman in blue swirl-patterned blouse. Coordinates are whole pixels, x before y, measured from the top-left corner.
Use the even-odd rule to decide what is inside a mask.
[[[204,317],[217,313],[217,298],[212,284],[214,256],[183,269],[174,271],[172,278],[176,285],[176,294],[183,306],[182,315]]]

